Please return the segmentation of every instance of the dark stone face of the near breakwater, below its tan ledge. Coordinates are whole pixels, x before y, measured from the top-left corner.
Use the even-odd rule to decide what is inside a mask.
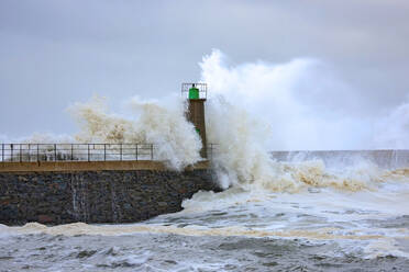
[[[210,170],[0,172],[0,224],[133,223],[181,211],[199,190],[220,191]]]

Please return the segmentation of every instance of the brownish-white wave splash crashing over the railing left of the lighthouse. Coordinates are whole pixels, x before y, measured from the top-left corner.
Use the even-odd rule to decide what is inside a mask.
[[[129,107],[132,115],[120,116],[109,113],[101,98],[76,103],[70,112],[81,127],[77,141],[154,144],[154,159],[177,170],[201,160],[201,140],[185,118],[186,109],[180,98],[167,105],[133,98]]]

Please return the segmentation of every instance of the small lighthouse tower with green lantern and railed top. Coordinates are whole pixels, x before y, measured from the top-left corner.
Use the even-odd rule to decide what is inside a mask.
[[[208,86],[206,83],[183,83],[181,94],[188,100],[187,120],[195,125],[196,132],[200,135],[202,149],[200,156],[207,158],[204,101]]]

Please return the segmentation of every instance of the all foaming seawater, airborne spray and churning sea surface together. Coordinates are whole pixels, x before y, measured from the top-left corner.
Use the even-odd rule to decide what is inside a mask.
[[[226,67],[220,52],[204,57],[202,80],[213,92],[206,107],[208,139],[218,144],[212,167],[225,191],[198,192],[180,213],[137,224],[0,226],[2,268],[407,271],[409,166],[395,155],[408,151],[387,158],[368,151],[272,158],[270,150],[286,148],[408,148],[405,104],[368,121],[318,116],[301,103],[297,81],[314,65],[298,59]],[[195,163],[200,140],[184,117],[184,103],[170,100],[133,100],[130,115],[110,113],[98,99],[78,103],[71,107],[81,124],[76,140],[154,143],[156,159],[170,168]]]

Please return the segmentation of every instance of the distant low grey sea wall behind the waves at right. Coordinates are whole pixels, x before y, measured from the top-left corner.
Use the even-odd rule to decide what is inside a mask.
[[[409,150],[273,151],[277,161],[322,160],[327,166],[354,166],[367,161],[384,169],[408,168]]]

